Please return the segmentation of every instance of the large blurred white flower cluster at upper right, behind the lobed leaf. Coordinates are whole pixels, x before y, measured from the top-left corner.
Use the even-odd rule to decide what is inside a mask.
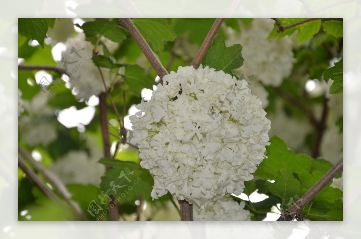
[[[239,21],[239,26],[240,33],[231,27],[226,29],[226,45],[241,44],[243,47],[243,66],[234,72],[238,76],[243,74],[252,83],[252,94],[261,99],[265,108],[268,105],[268,92],[257,81],[278,87],[283,79],[290,76],[296,61],[292,52],[294,43],[288,36],[267,39],[274,26],[274,21],[269,18],[254,18],[249,26]],[[248,78],[250,75],[254,77]]]

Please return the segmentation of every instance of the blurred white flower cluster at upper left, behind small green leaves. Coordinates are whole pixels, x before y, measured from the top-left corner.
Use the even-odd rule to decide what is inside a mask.
[[[114,43],[105,37],[101,37],[101,42],[106,48],[112,52],[118,47],[118,43]],[[98,68],[92,61],[94,45],[85,40],[85,34],[79,33],[77,36],[68,38],[65,42],[66,49],[62,52],[60,66],[66,68],[70,76],[70,84],[77,93],[77,99],[88,100],[92,95],[99,95],[105,92],[104,84],[101,79]],[[96,51],[103,54],[103,45],[99,44]],[[100,68],[104,76],[107,87],[116,80],[117,75],[110,72],[108,68]]]

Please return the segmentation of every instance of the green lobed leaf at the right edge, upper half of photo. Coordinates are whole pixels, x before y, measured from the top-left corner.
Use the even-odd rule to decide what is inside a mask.
[[[334,80],[330,87],[330,93],[341,94],[343,92],[343,58],[323,74],[323,80],[328,82],[330,79]]]

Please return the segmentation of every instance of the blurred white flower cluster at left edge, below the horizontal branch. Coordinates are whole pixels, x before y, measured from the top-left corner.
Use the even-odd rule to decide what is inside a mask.
[[[43,92],[36,94],[31,101],[23,101],[27,114],[19,117],[19,132],[29,146],[40,143],[47,146],[57,138],[56,109],[49,107],[47,102],[48,97]]]

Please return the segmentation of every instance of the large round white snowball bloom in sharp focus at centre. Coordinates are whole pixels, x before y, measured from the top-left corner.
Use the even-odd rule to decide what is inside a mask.
[[[246,81],[209,67],[179,67],[163,81],[130,116],[130,142],[154,176],[152,197],[169,191],[200,205],[239,195],[269,145],[261,101]]]

